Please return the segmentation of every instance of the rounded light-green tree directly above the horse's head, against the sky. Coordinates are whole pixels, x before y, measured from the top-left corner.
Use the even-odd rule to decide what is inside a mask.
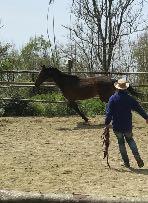
[[[30,38],[20,53],[22,69],[38,70],[42,64],[59,66],[60,54],[52,48],[49,40],[40,37]]]

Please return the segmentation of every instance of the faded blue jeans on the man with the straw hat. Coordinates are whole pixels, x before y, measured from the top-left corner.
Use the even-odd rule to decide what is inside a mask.
[[[135,159],[136,160],[141,159],[140,154],[138,152],[136,142],[133,139],[133,133],[132,132],[120,133],[120,132],[115,131],[114,133],[117,137],[118,145],[119,145],[119,151],[120,151],[121,157],[122,157],[125,164],[129,164],[129,158],[128,158],[127,151],[126,151],[125,140],[128,143]]]

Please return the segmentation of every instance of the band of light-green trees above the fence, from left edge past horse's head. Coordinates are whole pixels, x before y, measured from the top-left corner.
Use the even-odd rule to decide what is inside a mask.
[[[0,42],[0,70],[39,69],[41,65],[58,66],[61,62],[60,52],[53,48],[44,37],[32,37],[20,51],[10,43]]]

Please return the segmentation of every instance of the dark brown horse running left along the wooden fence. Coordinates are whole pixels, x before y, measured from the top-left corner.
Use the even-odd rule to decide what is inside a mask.
[[[79,78],[78,76],[69,75],[61,72],[57,68],[42,66],[35,86],[39,87],[43,82],[52,79],[64,97],[68,100],[69,106],[73,108],[81,117],[88,122],[88,118],[80,111],[77,100],[85,100],[99,96],[103,102],[108,102],[109,97],[115,92],[115,79],[106,76]],[[128,91],[137,96],[137,92],[130,86]]]

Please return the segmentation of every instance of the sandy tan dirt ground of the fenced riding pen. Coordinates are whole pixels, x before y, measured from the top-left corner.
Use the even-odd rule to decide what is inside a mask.
[[[133,133],[145,166],[121,166],[111,130],[109,163],[103,160],[104,118],[84,125],[74,117],[0,118],[0,190],[148,198],[148,126],[134,114]]]

